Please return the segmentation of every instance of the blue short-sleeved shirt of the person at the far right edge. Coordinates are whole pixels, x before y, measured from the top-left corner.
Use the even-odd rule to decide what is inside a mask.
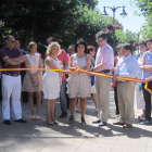
[[[144,65],[152,65],[152,53],[149,51],[143,53],[142,61]],[[143,71],[143,79],[152,76],[152,72]]]

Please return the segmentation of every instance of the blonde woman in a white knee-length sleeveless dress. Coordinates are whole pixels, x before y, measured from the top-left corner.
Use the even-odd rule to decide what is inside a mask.
[[[46,59],[46,68],[61,69],[60,61],[58,55],[60,54],[60,45],[52,42],[48,50],[48,58]],[[54,126],[59,123],[54,118],[55,100],[60,96],[60,74],[54,71],[46,71],[43,75],[43,94],[47,110],[47,123],[48,125]]]

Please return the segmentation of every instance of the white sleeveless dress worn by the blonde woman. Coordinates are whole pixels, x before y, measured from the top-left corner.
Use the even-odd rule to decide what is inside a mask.
[[[54,62],[56,67],[61,69],[61,64],[59,60],[54,60],[51,56],[48,56],[47,59],[50,59]],[[50,68],[46,64],[46,68]],[[58,72],[53,71],[46,71],[43,78],[43,97],[45,99],[51,100],[51,99],[56,99],[60,96],[60,76]]]

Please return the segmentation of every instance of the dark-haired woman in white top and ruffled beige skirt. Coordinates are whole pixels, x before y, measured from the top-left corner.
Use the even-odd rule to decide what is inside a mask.
[[[89,69],[90,67],[90,58],[87,54],[87,45],[83,39],[79,39],[75,45],[75,54],[69,59],[69,69],[75,71],[77,67],[81,69]],[[81,110],[81,125],[85,126],[85,113],[86,113],[86,103],[87,97],[90,97],[91,93],[91,83],[90,76],[86,73],[76,72],[69,75],[67,79],[67,93],[71,98],[71,117],[68,124],[74,122],[75,106],[77,98],[80,98],[80,110]]]

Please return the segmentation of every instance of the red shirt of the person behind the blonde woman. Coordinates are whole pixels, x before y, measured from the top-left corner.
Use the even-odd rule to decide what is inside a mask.
[[[68,56],[67,56],[67,53],[61,49],[61,53],[58,55],[58,60],[62,62],[62,65],[64,65],[65,63],[68,63]],[[65,80],[65,73],[63,73],[63,76],[62,76],[62,80]]]

